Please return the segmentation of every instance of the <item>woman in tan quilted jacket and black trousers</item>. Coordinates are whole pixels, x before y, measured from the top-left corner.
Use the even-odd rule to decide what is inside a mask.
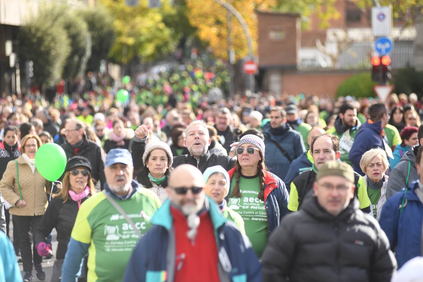
[[[50,193],[49,181],[35,167],[35,154],[41,145],[37,135],[27,134],[23,137],[21,156],[8,162],[0,181],[0,191],[5,200],[14,205],[9,212],[19,226],[18,236],[25,272],[23,281],[32,280],[33,262],[37,278],[44,280],[46,277],[41,266],[41,256],[38,255],[35,244],[31,246],[30,240],[30,231],[33,230],[35,242],[35,230],[47,208],[46,192]]]

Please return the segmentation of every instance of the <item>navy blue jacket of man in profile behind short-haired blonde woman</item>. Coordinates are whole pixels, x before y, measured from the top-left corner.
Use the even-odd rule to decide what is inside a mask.
[[[363,123],[358,129],[352,148],[349,151],[349,161],[352,162],[352,168],[362,176],[365,174],[360,168],[361,156],[373,148],[382,148],[385,150],[385,145],[380,136],[382,134],[381,123],[381,120],[375,123],[369,123],[368,121]],[[388,144],[386,137],[385,142]]]

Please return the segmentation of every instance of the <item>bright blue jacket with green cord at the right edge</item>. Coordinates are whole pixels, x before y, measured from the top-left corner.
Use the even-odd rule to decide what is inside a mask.
[[[396,249],[398,269],[408,260],[421,255],[423,204],[415,193],[418,187],[418,180],[409,184],[401,215],[399,206],[404,197],[404,189],[386,201],[380,214],[379,225],[385,231],[391,249]]]

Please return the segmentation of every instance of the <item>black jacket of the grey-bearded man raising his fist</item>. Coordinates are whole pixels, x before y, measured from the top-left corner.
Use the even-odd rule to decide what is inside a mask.
[[[146,142],[137,142],[134,140],[132,143],[132,161],[134,162],[134,171],[143,166],[143,154],[146,150]],[[173,157],[172,167],[177,167],[180,164],[192,164],[197,167],[201,172],[204,172],[207,167],[214,165],[221,165],[225,170],[230,170],[235,166],[236,159],[230,156],[222,156],[211,154],[209,151],[200,157],[199,160],[195,159],[190,154],[180,155]]]

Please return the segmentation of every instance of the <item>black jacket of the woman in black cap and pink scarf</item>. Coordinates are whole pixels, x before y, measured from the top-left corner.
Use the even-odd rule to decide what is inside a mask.
[[[90,197],[83,198],[81,203]],[[47,243],[47,237],[52,232],[53,228],[57,231],[58,247],[56,252],[56,259],[63,260],[65,258],[68,243],[71,239],[72,228],[75,224],[75,219],[78,214],[78,203],[68,196],[66,203],[62,199],[53,198],[41,218],[36,232],[36,244],[40,242]]]

